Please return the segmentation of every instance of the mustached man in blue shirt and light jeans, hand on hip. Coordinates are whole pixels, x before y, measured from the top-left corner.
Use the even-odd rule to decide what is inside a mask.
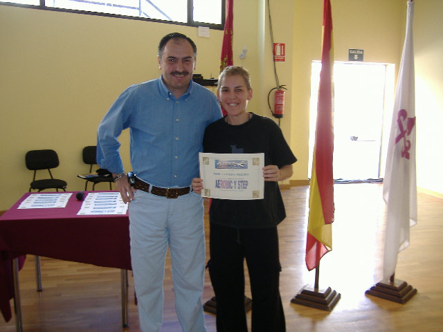
[[[159,44],[161,77],[129,86],[98,127],[98,165],[114,176],[129,203],[132,270],[141,331],[159,331],[163,320],[163,277],[169,246],[175,306],[184,332],[203,332],[205,239],[203,201],[192,192],[199,177],[204,129],[221,118],[214,93],[192,82],[197,47],[171,33]],[[118,136],[129,128],[129,185]]]

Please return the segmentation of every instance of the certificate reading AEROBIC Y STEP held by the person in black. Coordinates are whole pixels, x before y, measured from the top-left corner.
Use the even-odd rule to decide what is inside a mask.
[[[200,152],[202,197],[263,199],[264,154],[206,154]]]

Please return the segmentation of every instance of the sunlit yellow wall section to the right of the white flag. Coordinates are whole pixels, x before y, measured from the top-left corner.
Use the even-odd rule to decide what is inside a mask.
[[[414,15],[417,185],[443,198],[443,2],[416,0]],[[440,195],[439,195],[440,194]]]

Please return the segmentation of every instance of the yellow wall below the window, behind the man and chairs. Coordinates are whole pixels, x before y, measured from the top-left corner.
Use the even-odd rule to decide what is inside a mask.
[[[77,178],[89,171],[82,148],[96,145],[98,123],[123,89],[159,77],[163,35],[178,31],[195,40],[195,73],[208,78],[219,71],[219,30],[203,38],[185,26],[0,6],[0,31],[0,210],[28,191],[30,149],[57,151],[54,176],[68,190],[84,188]],[[128,137],[122,152],[130,170]]]

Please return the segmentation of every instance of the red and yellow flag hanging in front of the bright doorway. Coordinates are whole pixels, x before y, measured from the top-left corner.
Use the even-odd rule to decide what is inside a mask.
[[[334,52],[332,44],[332,13],[330,0],[323,0],[323,46],[312,175],[309,187],[309,217],[306,243],[306,266],[312,270],[321,257],[332,250],[334,221],[334,178],[332,127]]]

